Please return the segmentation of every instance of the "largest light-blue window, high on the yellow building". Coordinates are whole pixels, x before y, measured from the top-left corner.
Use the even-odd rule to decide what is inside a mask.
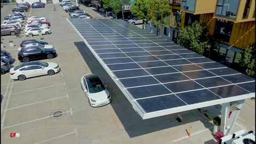
[[[236,19],[239,0],[218,0],[215,15],[228,19]]]

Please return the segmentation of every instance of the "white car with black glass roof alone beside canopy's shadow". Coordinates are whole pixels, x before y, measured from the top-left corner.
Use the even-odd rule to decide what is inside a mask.
[[[81,78],[82,90],[92,107],[100,107],[111,102],[111,96],[97,75],[89,74]]]

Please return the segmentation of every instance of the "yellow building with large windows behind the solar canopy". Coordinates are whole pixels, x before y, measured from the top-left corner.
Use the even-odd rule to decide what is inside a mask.
[[[255,43],[255,0],[170,0],[170,9],[163,35],[179,43],[179,30],[198,21],[218,45],[213,59],[224,65],[236,67],[245,46]]]

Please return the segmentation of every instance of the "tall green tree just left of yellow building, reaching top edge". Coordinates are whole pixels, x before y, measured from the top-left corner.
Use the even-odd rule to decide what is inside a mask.
[[[163,25],[168,25],[168,21],[165,19],[165,17],[168,17],[171,13],[170,10],[170,4],[169,0],[147,0],[150,4],[150,15],[153,24],[157,26],[159,29],[159,33],[161,34],[162,27],[160,26],[160,23]]]

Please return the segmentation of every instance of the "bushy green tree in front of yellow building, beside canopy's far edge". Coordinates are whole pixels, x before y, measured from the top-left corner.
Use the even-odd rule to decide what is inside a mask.
[[[203,54],[204,49],[209,46],[209,39],[205,38],[203,31],[204,28],[197,21],[183,28],[179,34],[180,44],[191,51]]]

